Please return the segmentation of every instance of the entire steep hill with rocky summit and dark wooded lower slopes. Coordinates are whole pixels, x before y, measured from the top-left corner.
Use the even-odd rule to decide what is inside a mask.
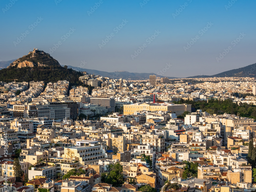
[[[66,80],[71,86],[83,84],[79,80],[79,77],[82,76],[81,72],[68,68],[68,66],[62,67],[50,54],[38,49],[10,62],[9,66],[7,65],[6,68],[0,70],[0,81],[10,82],[17,79],[18,82],[44,81],[45,83],[54,83]]]

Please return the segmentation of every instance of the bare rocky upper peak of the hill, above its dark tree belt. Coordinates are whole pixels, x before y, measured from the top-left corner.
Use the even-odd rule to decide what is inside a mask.
[[[23,57],[13,61],[7,69],[36,66],[60,66],[60,63],[51,57],[49,53],[34,48],[33,51],[29,51],[28,55],[24,55]]]

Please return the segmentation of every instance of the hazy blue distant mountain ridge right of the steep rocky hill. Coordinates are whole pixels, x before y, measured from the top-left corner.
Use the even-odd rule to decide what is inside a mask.
[[[64,65],[62,65],[64,66]],[[72,68],[73,70],[76,71],[86,71],[87,73],[94,74],[94,75],[100,75],[102,77],[109,77],[112,79],[115,78],[123,78],[123,79],[132,79],[132,80],[138,80],[138,79],[149,79],[150,75],[156,74],[156,73],[130,73],[128,71],[115,71],[115,72],[106,72],[106,71],[98,71],[94,69],[83,69],[80,67],[73,67],[68,65],[69,68]],[[159,76],[157,77],[166,77],[166,76]],[[177,79],[177,77],[167,77],[169,79]]]

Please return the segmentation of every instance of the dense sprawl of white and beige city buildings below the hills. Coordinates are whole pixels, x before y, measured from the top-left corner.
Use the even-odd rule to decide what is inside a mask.
[[[0,82],[8,191],[256,187],[255,78],[13,80]]]

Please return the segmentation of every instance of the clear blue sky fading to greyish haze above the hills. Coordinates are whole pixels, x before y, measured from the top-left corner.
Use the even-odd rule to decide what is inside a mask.
[[[0,60],[36,47],[61,65],[213,75],[256,63],[255,6],[253,0],[2,0]]]

